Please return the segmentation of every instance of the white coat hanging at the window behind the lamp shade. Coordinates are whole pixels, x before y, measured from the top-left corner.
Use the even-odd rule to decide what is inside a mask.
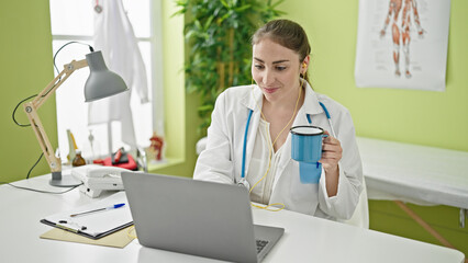
[[[130,92],[89,103],[88,125],[121,122],[122,141],[136,148],[130,99],[136,93],[141,103],[148,102],[145,65],[122,0],[93,0],[92,7],[97,3],[100,12],[93,11],[94,50],[102,52],[109,69],[123,78]]]

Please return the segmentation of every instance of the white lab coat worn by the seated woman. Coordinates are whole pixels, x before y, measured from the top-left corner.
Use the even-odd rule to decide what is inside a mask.
[[[237,183],[241,180],[244,133],[248,110],[253,110],[247,135],[246,176],[258,133],[263,93],[257,85],[230,88],[216,100],[212,123],[208,129],[207,148],[198,158],[193,179],[220,183]],[[282,147],[282,157],[269,203],[282,203],[285,208],[328,219],[348,219],[359,201],[363,182],[363,168],[355,139],[355,129],[349,112],[332,99],[305,88],[304,104],[299,110],[292,126],[312,125],[330,132],[326,115],[319,101],[327,107],[337,139],[343,148],[339,161],[339,182],[336,196],[328,197],[325,187],[325,173],[319,184],[302,184],[299,179],[299,163],[291,159],[291,136]]]

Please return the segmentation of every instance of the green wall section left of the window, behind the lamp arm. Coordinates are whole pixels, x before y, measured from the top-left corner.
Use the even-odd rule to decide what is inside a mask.
[[[26,178],[42,153],[32,128],[16,126],[11,115],[21,100],[37,94],[54,78],[48,1],[0,1],[0,181],[4,182]],[[55,99],[51,98],[38,114],[56,146]],[[16,116],[20,123],[27,124],[22,106]],[[47,172],[43,158],[32,174]]]

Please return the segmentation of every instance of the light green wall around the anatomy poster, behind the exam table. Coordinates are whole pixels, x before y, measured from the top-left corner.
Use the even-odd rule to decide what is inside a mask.
[[[468,1],[452,1],[445,92],[356,88],[358,2],[286,0],[280,5],[310,37],[314,89],[350,111],[358,136],[468,151]],[[458,209],[410,207],[468,255],[468,229],[458,227]],[[394,203],[370,201],[369,209],[371,229],[439,244]]]

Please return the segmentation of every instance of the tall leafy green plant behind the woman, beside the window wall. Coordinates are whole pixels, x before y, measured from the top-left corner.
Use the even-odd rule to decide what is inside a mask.
[[[186,89],[197,93],[204,136],[218,95],[229,87],[252,82],[250,36],[265,22],[282,14],[276,7],[283,0],[179,0],[186,14],[188,58]]]

